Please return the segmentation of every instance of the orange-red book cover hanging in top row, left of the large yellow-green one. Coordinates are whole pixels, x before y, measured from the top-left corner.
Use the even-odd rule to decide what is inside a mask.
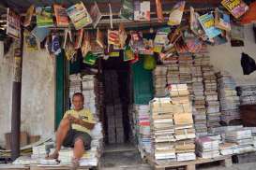
[[[60,5],[53,5],[57,26],[68,27],[68,14],[66,8]]]

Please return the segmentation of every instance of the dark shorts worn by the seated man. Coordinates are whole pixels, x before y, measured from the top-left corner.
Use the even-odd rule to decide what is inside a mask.
[[[83,140],[83,146],[85,150],[91,149],[92,137],[87,133],[76,131],[74,129],[70,129],[68,131],[68,134],[63,141],[63,146],[68,148],[74,148],[75,142],[78,138],[81,138]]]

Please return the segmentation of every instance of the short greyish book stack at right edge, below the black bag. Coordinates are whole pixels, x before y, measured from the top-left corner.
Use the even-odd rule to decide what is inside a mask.
[[[256,85],[237,87],[237,94],[240,98],[241,106],[256,105]]]

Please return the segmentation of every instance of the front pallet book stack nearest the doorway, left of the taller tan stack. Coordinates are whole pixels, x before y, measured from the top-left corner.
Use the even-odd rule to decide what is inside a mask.
[[[176,161],[173,112],[182,109],[173,105],[170,97],[150,101],[152,155],[156,162]]]

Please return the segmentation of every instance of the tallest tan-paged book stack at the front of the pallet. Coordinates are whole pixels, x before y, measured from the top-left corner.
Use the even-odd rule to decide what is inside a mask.
[[[177,161],[195,160],[195,130],[192,119],[192,106],[187,84],[169,85],[173,107],[175,153]]]

